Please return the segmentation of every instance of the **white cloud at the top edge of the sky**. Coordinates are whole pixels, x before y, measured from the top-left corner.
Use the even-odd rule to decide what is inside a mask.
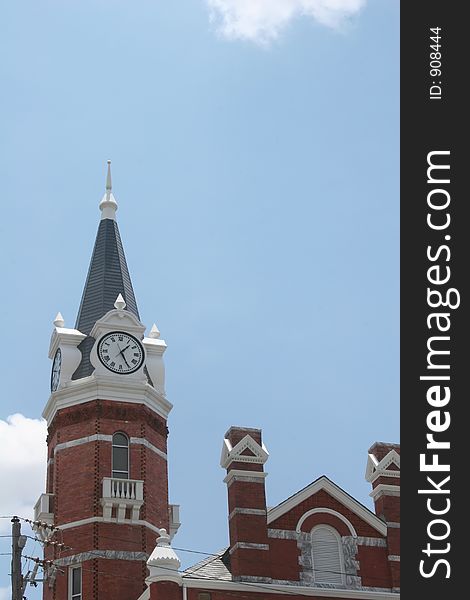
[[[296,17],[338,28],[367,0],[206,0],[211,22],[228,39],[267,44]]]

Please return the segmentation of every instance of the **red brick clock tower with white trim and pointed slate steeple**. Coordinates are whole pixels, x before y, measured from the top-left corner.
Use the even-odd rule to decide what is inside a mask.
[[[95,246],[75,327],[54,320],[46,492],[35,527],[46,544],[44,600],[129,600],[146,588],[169,504],[165,342],[145,336],[116,221],[108,162]]]

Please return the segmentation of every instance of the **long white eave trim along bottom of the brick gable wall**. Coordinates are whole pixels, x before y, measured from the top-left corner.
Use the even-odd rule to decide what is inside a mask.
[[[193,575],[183,575],[183,587],[187,588],[204,588],[210,590],[220,591],[237,591],[243,592],[251,589],[252,592],[263,592],[269,594],[282,594],[286,593],[289,595],[299,596],[317,596],[319,598],[344,598],[345,595],[351,600],[397,600],[397,593],[390,592],[387,588],[375,588],[374,591],[366,590],[345,590],[344,588],[320,588],[320,587],[306,587],[300,585],[276,585],[274,587],[269,583],[249,583],[243,581],[223,581],[213,579],[204,579],[203,577],[197,578]],[[383,590],[383,591],[380,591]],[[146,590],[148,591],[148,590]],[[145,594],[145,592],[144,592]],[[150,598],[150,592],[148,595],[144,595],[139,600],[148,600]]]

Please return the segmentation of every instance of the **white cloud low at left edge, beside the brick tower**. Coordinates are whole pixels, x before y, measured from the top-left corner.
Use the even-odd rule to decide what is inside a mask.
[[[33,506],[45,491],[47,427],[43,419],[21,414],[0,419],[0,473],[2,494],[0,514],[31,517]],[[8,519],[0,519],[0,530],[10,529]],[[0,600],[3,588],[0,588]]]

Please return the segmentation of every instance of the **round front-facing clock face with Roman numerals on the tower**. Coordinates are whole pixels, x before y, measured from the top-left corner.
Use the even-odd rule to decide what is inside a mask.
[[[127,375],[142,366],[144,349],[133,335],[113,331],[101,338],[98,344],[98,357],[113,373]]]

